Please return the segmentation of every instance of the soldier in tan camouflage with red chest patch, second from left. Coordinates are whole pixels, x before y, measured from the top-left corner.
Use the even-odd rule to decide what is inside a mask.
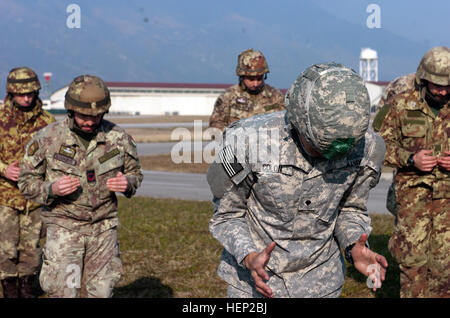
[[[40,275],[50,297],[111,297],[121,274],[117,198],[142,181],[136,144],[103,119],[111,105],[98,77],[75,78],[65,96],[68,117],[27,145],[19,189],[44,205],[47,241]]]

